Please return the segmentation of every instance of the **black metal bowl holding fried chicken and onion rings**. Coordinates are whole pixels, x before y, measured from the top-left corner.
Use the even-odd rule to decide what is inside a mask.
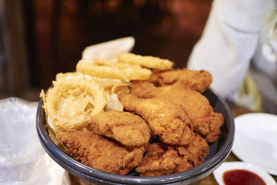
[[[225,100],[212,89],[208,89],[204,93],[204,96],[208,98],[211,106],[215,108],[215,112],[220,112],[224,116],[224,126],[222,127],[220,139],[209,146],[210,152],[203,164],[172,175],[163,175],[159,177],[115,175],[80,164],[80,162],[75,161],[75,159],[60,150],[50,139],[46,126],[45,112],[42,108],[42,99],[39,100],[39,105],[37,107],[37,133],[39,134],[39,140],[44,150],[46,150],[48,155],[56,161],[57,164],[60,164],[60,166],[69,173],[87,180],[88,182],[96,184],[190,184],[210,175],[223,163],[223,161],[225,161],[231,152],[235,134],[233,114]]]

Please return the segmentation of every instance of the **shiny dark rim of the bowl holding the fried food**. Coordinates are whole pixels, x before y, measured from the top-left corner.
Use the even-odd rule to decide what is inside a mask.
[[[50,139],[44,127],[42,125],[42,114],[45,115],[44,109],[42,108],[43,100],[40,98],[39,105],[37,106],[37,116],[36,116],[36,127],[37,133],[39,135],[39,140],[44,147],[44,150],[51,156],[54,161],[56,161],[60,166],[66,166],[66,170],[71,170],[71,173],[82,173],[82,175],[86,175],[89,179],[98,179],[103,182],[114,183],[114,184],[165,184],[165,183],[173,183],[179,182],[190,177],[194,177],[197,175],[201,175],[206,173],[209,169],[218,167],[220,163],[223,162],[226,157],[228,157],[229,153],[231,152],[231,148],[233,146],[233,138],[235,135],[235,124],[233,114],[229,108],[229,105],[226,103],[224,98],[220,96],[215,90],[209,88],[207,91],[211,91],[212,94],[217,96],[220,99],[224,107],[226,107],[226,112],[230,116],[229,121],[231,123],[228,127],[228,132],[226,134],[226,141],[224,141],[220,150],[218,150],[215,155],[211,158],[204,161],[203,164],[191,168],[189,170],[174,173],[170,175],[162,175],[162,176],[155,176],[155,177],[139,177],[139,176],[128,176],[128,175],[116,175],[112,173],[107,173],[101,170],[96,170],[95,168],[91,168],[89,166],[85,166],[78,161],[75,161],[72,157],[66,154],[58,148],[55,143]],[[43,113],[44,112],[44,113]],[[226,118],[224,118],[226,119]],[[51,154],[50,154],[50,153]],[[64,168],[64,167],[63,167]],[[75,175],[75,174],[74,174]],[[154,181],[154,182],[153,182]]]

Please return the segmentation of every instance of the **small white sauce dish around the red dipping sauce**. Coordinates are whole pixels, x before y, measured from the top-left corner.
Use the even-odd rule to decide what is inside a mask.
[[[262,168],[255,166],[253,164],[247,164],[245,162],[224,162],[220,168],[217,168],[213,172],[215,179],[218,184],[224,185],[223,173],[229,170],[249,170],[252,173],[260,176],[267,185],[276,185],[275,180]]]

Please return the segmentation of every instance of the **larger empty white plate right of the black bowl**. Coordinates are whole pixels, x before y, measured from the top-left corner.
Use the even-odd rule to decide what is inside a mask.
[[[277,175],[277,116],[251,113],[236,117],[232,152],[242,161]]]

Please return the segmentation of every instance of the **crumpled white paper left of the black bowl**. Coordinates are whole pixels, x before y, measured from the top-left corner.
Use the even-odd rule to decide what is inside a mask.
[[[69,175],[39,143],[37,102],[0,100],[0,184],[70,184]]]

